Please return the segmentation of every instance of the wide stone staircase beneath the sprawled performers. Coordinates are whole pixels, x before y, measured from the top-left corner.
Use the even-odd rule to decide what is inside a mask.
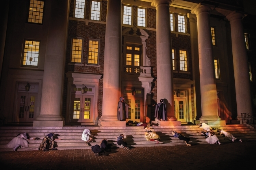
[[[212,128],[223,129],[236,137],[242,139],[242,141],[256,141],[256,131],[251,129],[246,124],[230,124],[211,126]],[[85,145],[81,136],[84,129],[90,129],[93,137],[91,145],[98,144],[102,139],[107,139],[112,146],[117,146],[116,137],[121,133],[124,134],[125,141],[128,143],[128,147],[149,147],[149,146],[169,146],[169,145],[185,145],[186,143],[178,138],[173,137],[171,131],[176,131],[182,135],[189,137],[191,140],[189,143],[193,144],[206,144],[205,137],[200,134],[202,128],[198,128],[196,125],[182,125],[182,126],[152,126],[150,129],[145,130],[141,126],[126,126],[126,127],[99,127],[99,126],[64,126],[64,127],[32,127],[32,126],[4,126],[0,127],[0,152],[13,151],[11,148],[6,148],[6,144],[16,137],[19,133],[28,133],[30,137],[40,137],[39,140],[29,140],[28,148],[19,148],[18,151],[25,150],[38,150],[38,147],[42,139],[48,133],[55,133],[56,148],[58,150],[64,149],[91,149],[91,146]],[[161,141],[159,144],[152,141],[146,141],[145,132],[151,130],[156,132]],[[216,131],[216,130],[215,130]],[[232,142],[225,141],[224,135],[218,135],[221,143]]]

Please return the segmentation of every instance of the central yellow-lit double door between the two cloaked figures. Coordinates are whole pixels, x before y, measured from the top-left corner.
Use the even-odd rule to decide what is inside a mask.
[[[128,106],[128,119],[126,121],[144,122],[143,97],[126,97]]]

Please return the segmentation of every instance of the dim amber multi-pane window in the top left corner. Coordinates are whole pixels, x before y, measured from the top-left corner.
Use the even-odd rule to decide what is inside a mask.
[[[44,1],[30,0],[28,22],[42,24],[44,3]]]

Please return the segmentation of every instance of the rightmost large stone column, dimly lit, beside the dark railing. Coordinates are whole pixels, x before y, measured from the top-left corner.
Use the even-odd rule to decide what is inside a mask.
[[[241,113],[252,113],[249,68],[242,23],[243,17],[243,14],[236,11],[226,16],[231,26],[238,120],[241,120]]]

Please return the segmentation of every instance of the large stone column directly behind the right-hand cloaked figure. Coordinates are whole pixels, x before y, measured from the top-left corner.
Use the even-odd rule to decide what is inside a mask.
[[[167,121],[176,121],[173,98],[173,63],[171,25],[171,0],[154,0],[151,5],[156,7],[156,71],[157,71],[157,102],[164,99],[167,107]]]

